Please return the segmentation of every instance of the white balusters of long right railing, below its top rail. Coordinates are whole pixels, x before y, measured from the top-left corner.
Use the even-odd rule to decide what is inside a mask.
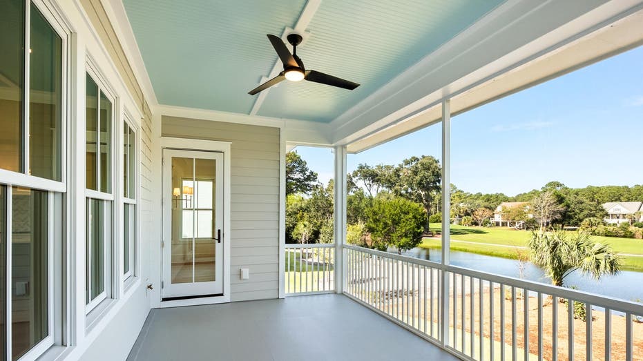
[[[643,354],[641,304],[357,246],[343,252],[345,295],[463,359]]]

